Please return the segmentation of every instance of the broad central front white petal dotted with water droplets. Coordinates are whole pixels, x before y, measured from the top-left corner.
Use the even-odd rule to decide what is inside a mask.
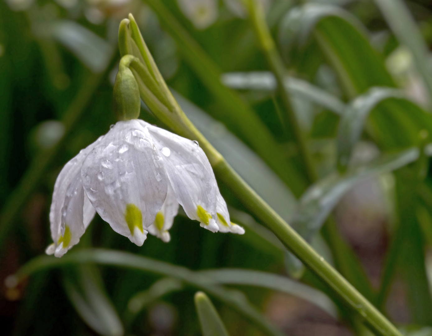
[[[168,184],[162,158],[140,123],[119,121],[87,156],[81,176],[102,219],[141,246]]]

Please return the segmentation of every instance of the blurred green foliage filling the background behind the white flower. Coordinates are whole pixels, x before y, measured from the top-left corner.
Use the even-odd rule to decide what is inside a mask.
[[[240,0],[0,1],[2,282],[51,243],[48,212],[62,166],[116,122],[118,25],[133,13],[181,107],[238,174],[403,333],[432,334],[431,4],[262,3],[283,73],[269,71],[277,69],[267,63]],[[283,95],[300,137],[284,119]],[[164,127],[144,104],[140,117]],[[378,204],[382,218],[348,202],[354,192],[367,203],[371,196],[361,190],[368,183],[378,188],[370,203]],[[212,234],[180,214],[168,244],[149,236],[137,247],[96,216],[69,254],[104,247],[192,271],[266,272],[262,278],[231,270],[228,281],[214,270],[206,283],[205,272],[190,273],[197,279],[189,281],[175,268],[158,275],[79,260],[56,270],[41,267],[18,288],[1,284],[3,333],[199,335],[197,288],[216,298],[230,335],[261,335],[253,323],[257,311],[283,332],[300,335],[292,316],[314,324],[314,317],[301,315],[304,302],[315,302],[321,312],[315,318],[325,321],[305,329],[309,335],[368,332],[361,316],[245,213],[230,186],[219,187],[244,236]],[[356,226],[363,212],[370,216]],[[371,254],[366,247],[374,238],[384,243]],[[278,305],[280,292],[301,299]],[[207,323],[219,323],[206,304]],[[266,318],[262,323],[275,328]],[[204,326],[202,313],[200,320]],[[326,324],[336,331],[325,331]]]

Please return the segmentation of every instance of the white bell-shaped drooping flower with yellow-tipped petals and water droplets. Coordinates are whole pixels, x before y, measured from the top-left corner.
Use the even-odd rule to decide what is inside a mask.
[[[230,222],[198,143],[143,120],[119,121],[60,171],[50,211],[54,243],[46,252],[64,255],[96,212],[138,246],[148,232],[169,241],[179,204],[210,231],[245,232]]]

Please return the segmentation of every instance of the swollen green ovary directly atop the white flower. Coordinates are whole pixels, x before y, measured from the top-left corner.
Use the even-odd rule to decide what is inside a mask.
[[[120,60],[114,83],[114,111],[118,120],[137,119],[140,116],[141,100],[138,84],[129,69],[130,57]]]

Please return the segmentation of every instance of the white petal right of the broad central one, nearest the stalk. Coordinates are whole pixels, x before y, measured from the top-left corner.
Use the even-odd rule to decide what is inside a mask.
[[[205,153],[194,141],[149,124],[146,127],[162,153],[166,173],[178,203],[190,219],[203,222],[204,227],[210,225],[211,219],[216,219],[218,187]],[[204,218],[206,216],[208,217]]]

